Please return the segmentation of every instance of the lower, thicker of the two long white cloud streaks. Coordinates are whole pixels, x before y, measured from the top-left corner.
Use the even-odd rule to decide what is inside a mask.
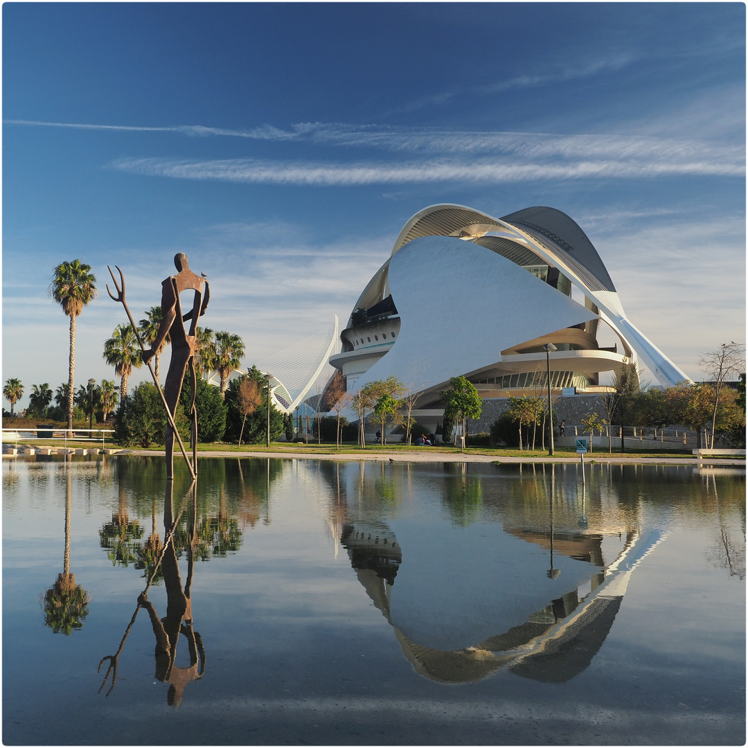
[[[187,180],[220,180],[307,186],[353,186],[461,181],[512,183],[533,180],[568,180],[599,177],[661,177],[672,175],[717,175],[741,177],[741,164],[719,164],[708,160],[579,160],[568,163],[518,163],[515,159],[429,160],[381,164],[281,162],[260,159],[117,159],[112,168],[149,177]]]

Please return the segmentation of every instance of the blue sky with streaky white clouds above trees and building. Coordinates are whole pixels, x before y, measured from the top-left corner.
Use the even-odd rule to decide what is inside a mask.
[[[402,224],[443,202],[571,215],[693,378],[700,352],[745,340],[744,4],[2,13],[2,378],[27,394],[67,380],[47,295],[63,260],[101,291],[76,386],[114,378],[106,266],[140,319],[178,251],[211,282],[204,325],[252,364],[344,325]]]

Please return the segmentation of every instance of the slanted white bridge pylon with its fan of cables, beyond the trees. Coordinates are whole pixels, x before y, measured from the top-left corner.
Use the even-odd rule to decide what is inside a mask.
[[[257,361],[257,368],[264,375],[270,375],[272,402],[281,413],[289,414],[295,410],[328,365],[328,358],[337,352],[335,349],[340,346],[337,314],[334,319],[331,327],[300,340],[271,358]],[[244,373],[236,369],[230,378]]]

